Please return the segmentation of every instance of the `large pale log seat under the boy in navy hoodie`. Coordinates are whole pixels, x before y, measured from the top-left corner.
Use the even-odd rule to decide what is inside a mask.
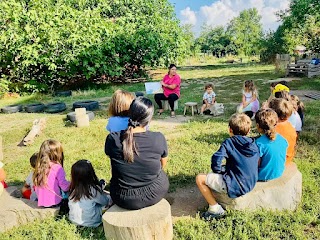
[[[254,189],[244,196],[231,199],[226,194],[213,191],[219,204],[235,210],[294,210],[301,201],[302,174],[295,163],[286,166],[282,177],[257,182]]]

